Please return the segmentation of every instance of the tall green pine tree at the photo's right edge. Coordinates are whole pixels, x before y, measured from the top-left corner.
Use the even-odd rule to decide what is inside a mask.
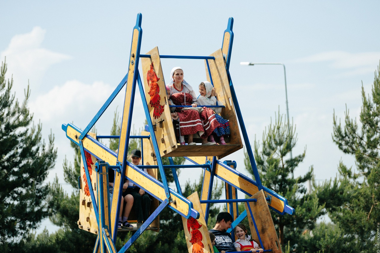
[[[344,126],[334,113],[332,140],[345,154],[355,156],[355,169],[339,163],[339,175],[318,189],[332,222],[339,224],[345,238],[371,251],[380,221],[380,77],[378,68],[372,86],[372,99],[362,85],[363,105],[360,123],[346,108]],[[350,251],[351,248],[347,247]],[[332,252],[332,251],[331,251]]]

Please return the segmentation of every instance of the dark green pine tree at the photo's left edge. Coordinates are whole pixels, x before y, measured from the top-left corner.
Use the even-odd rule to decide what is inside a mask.
[[[0,248],[12,247],[30,229],[47,217],[44,184],[54,167],[57,150],[54,136],[46,145],[42,125],[34,125],[27,107],[29,87],[20,104],[12,94],[13,79],[6,80],[7,64],[0,68]],[[9,248],[8,248],[9,250]],[[4,252],[4,251],[2,251]]]

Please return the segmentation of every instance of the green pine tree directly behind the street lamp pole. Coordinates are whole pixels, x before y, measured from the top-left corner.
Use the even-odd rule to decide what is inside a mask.
[[[306,229],[313,229],[315,221],[323,214],[323,206],[318,204],[317,196],[308,194],[305,182],[312,179],[313,167],[298,178],[293,178],[293,171],[304,160],[306,149],[302,154],[290,158],[290,151],[297,142],[293,125],[288,126],[278,113],[274,124],[269,124],[263,133],[262,148],[255,139],[254,154],[261,183],[279,193],[295,209],[293,215],[279,215],[271,211],[275,228],[283,249],[290,242],[292,250],[299,252],[299,238]],[[252,174],[248,154],[245,153],[245,168]],[[302,251],[303,252],[303,251]]]

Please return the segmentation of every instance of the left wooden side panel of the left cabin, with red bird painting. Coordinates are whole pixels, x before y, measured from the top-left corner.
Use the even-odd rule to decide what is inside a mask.
[[[72,129],[72,128],[71,128]],[[88,133],[90,136],[95,137],[94,133]],[[80,134],[78,133],[78,136]],[[97,198],[97,173],[95,171],[95,163],[96,158],[94,156],[90,156],[91,161],[89,160],[87,163],[89,174],[91,178],[91,185],[92,189],[94,191],[95,198]],[[98,222],[97,218],[95,216],[95,211],[93,209],[93,203],[91,200],[91,196],[89,192],[85,193],[85,187],[86,187],[86,173],[84,171],[84,163],[81,157],[81,190],[79,191],[79,220],[78,220],[78,227],[80,229],[83,229],[85,231],[89,231],[93,234],[98,234]],[[89,183],[89,180],[87,180],[87,183]],[[91,187],[91,185],[88,185]],[[86,191],[87,192],[87,191]],[[87,206],[88,205],[88,206]]]

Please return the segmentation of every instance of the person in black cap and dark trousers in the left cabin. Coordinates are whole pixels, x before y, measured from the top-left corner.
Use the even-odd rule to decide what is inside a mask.
[[[129,158],[133,165],[141,165],[141,151],[139,149],[133,149]],[[142,170],[142,169],[141,169]],[[147,169],[143,169],[144,172],[147,172]],[[132,182],[129,182],[129,186],[136,186]],[[133,209],[136,212],[137,217],[137,228],[142,225],[142,222],[146,221],[149,218],[150,210],[150,196],[144,190],[136,187],[135,189],[127,189],[128,193],[133,196]]]

